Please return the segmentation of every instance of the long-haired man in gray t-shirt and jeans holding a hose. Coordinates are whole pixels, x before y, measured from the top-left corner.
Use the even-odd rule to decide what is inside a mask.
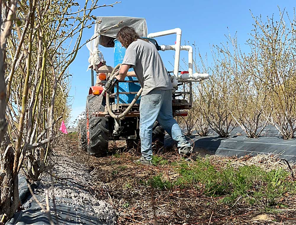
[[[155,45],[141,39],[131,27],[121,28],[116,38],[126,48],[116,79],[123,81],[126,75],[133,75],[132,72],[128,72],[129,68],[133,68],[134,75],[143,88],[140,103],[142,157],[136,161],[151,165],[152,128],[156,120],[178,143],[179,153],[188,157],[191,154],[191,146],[173,118],[173,86]]]

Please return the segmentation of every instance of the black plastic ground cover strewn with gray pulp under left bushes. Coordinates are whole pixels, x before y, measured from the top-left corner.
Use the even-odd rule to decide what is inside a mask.
[[[44,176],[42,182],[32,185],[34,196],[45,208],[48,190],[51,218],[54,224],[108,224],[116,223],[113,207],[98,200],[88,191],[88,168],[68,156],[70,149],[61,143],[52,156],[55,165],[52,174],[55,182]],[[74,157],[74,156],[73,156]],[[59,178],[59,179],[58,179]],[[53,188],[52,188],[53,185]],[[47,214],[30,194],[24,176],[19,177],[19,193],[22,210],[17,212],[6,225],[50,224]]]

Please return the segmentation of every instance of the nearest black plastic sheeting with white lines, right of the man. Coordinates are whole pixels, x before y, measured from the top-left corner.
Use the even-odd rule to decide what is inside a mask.
[[[193,152],[203,155],[237,156],[273,154],[289,162],[296,162],[296,139],[284,140],[279,137],[260,137],[250,139],[246,136],[232,136],[220,138],[219,136],[189,136],[187,138],[194,145]],[[173,145],[173,140],[165,137],[165,146]]]

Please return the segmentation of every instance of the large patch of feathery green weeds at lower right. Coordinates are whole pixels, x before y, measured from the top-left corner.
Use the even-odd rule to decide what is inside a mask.
[[[282,168],[267,172],[255,165],[238,168],[228,165],[220,169],[203,158],[197,158],[194,163],[181,161],[173,165],[180,174],[174,186],[197,186],[204,195],[225,196],[220,202],[228,205],[240,198],[250,205],[262,203],[266,207],[281,207],[280,198],[296,190],[295,182],[287,180],[289,173]]]

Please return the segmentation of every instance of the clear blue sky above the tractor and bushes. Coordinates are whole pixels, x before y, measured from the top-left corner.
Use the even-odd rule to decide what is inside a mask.
[[[79,0],[78,2],[83,2]],[[100,0],[99,4],[112,4],[115,1]],[[84,3],[83,3],[84,5]],[[82,5],[81,5],[82,6]],[[291,15],[296,6],[295,0],[121,0],[114,7],[102,7],[96,9],[95,16],[130,16],[143,17],[147,21],[148,33],[169,30],[173,28],[182,29],[182,44],[184,41],[196,43],[202,55],[210,53],[212,45],[220,45],[226,41],[225,34],[229,32],[233,36],[237,32],[238,43],[244,51],[246,40],[250,38],[254,16],[266,16],[273,14],[278,18],[279,9],[284,8]],[[94,34],[94,28],[86,29],[83,40],[89,39]],[[158,44],[175,44],[176,36],[170,35],[156,38]],[[108,65],[113,66],[113,48],[101,48]],[[173,51],[160,52],[168,70],[173,67]],[[78,52],[75,61],[70,65],[72,87],[70,95],[74,97],[72,106],[72,119],[85,109],[86,96],[91,85],[90,71],[86,72],[88,66],[89,51],[86,46]],[[181,57],[187,59],[186,53]]]

